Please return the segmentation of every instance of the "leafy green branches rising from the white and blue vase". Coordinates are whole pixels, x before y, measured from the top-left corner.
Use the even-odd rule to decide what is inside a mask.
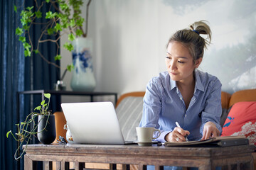
[[[81,7],[83,5],[82,0],[34,0],[34,6],[28,6],[21,11],[21,23],[22,27],[16,28],[16,35],[19,36],[19,40],[23,43],[24,55],[27,57],[33,56],[33,54],[38,54],[44,61],[48,64],[52,64],[60,69],[60,66],[55,64],[55,62],[50,62],[43,56],[42,52],[39,50],[39,46],[45,42],[52,42],[57,50],[54,59],[60,60],[60,38],[63,34],[68,34],[68,42],[65,42],[63,47],[70,52],[74,49],[71,43],[75,38],[87,37],[88,22],[85,23],[85,19],[88,19],[88,8],[91,0],[87,1],[87,13],[86,17],[82,17]],[[43,12],[42,7],[48,6],[47,11]],[[22,6],[14,6],[14,11]],[[53,12],[54,11],[54,12]],[[46,18],[45,23],[38,23],[37,19]],[[85,23],[85,28],[83,28],[83,23]],[[31,37],[31,27],[41,25],[43,29],[41,30],[41,35],[36,44],[33,44]],[[50,36],[53,35],[53,36]],[[46,38],[47,37],[47,38]],[[68,64],[63,76],[63,79],[67,70],[71,71],[73,69],[73,64]]]

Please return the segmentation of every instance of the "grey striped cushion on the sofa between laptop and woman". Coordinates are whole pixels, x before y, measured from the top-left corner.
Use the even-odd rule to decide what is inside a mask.
[[[127,97],[116,108],[124,140],[136,141],[136,127],[142,119],[143,97]]]

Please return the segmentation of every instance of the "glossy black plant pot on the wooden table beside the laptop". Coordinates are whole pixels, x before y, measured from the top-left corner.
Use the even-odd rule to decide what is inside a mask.
[[[46,125],[47,124],[47,125]],[[38,116],[38,140],[45,144],[51,144],[56,138],[55,116],[39,115]]]

